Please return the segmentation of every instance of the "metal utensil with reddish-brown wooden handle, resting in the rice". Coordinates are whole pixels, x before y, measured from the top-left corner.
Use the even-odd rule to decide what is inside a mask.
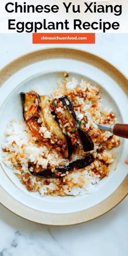
[[[112,132],[114,135],[128,139],[128,124],[97,124],[100,130]]]

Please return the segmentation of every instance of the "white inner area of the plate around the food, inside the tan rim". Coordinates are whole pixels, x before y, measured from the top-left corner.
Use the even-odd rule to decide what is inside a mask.
[[[1,144],[4,142],[4,130],[9,120],[23,120],[20,92],[40,87],[42,94],[50,94],[65,71],[69,72],[70,77],[78,80],[85,79],[97,85],[100,88],[103,105],[112,108],[119,122],[128,123],[126,94],[107,72],[89,63],[73,59],[43,60],[12,74],[0,88]],[[2,163],[2,157],[0,158],[0,184],[13,199],[30,209],[50,214],[76,213],[99,204],[123,182],[127,174],[127,167],[124,164],[127,148],[128,140],[121,139],[121,145],[113,152],[116,160],[112,165],[110,175],[95,185],[95,191],[92,194],[76,197],[41,197],[39,193],[30,192],[21,184],[12,170]]]

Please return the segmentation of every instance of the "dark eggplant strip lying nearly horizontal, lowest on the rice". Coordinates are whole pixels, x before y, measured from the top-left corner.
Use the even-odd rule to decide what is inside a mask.
[[[55,167],[55,171],[53,172],[52,169],[44,169],[44,170],[40,170],[37,169],[38,172],[35,172],[36,170],[36,164],[33,164],[33,163],[29,163],[28,164],[28,169],[30,171],[30,168],[33,167],[34,168],[34,171],[30,171],[30,173],[32,175],[35,175],[37,177],[40,177],[40,178],[62,178],[65,174],[66,176],[66,172],[71,172],[73,171],[74,168],[76,169],[82,169],[82,168],[85,168],[87,167],[89,164],[93,163],[94,162],[94,156],[92,154],[89,154],[85,157],[82,157],[80,159],[77,159],[76,161],[73,161],[72,163],[69,163],[69,165],[61,165],[59,167]]]

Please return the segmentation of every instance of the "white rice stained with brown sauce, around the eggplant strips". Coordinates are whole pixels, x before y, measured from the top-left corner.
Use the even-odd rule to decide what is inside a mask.
[[[114,162],[112,149],[120,144],[118,137],[110,132],[99,130],[95,125],[95,123],[113,124],[116,121],[116,115],[112,110],[103,108],[97,87],[84,80],[71,79],[65,73],[62,82],[57,83],[50,97],[57,99],[62,95],[68,95],[72,100],[81,128],[93,139],[94,150],[91,151],[95,157],[93,163],[79,171],[76,169],[71,173],[67,171],[61,179],[34,177],[30,173],[33,168],[28,169],[29,162],[35,163],[37,167],[41,165],[43,169],[47,169],[49,165],[52,167],[60,164],[68,166],[70,162],[86,156],[87,153],[82,150],[79,141],[78,149],[70,159],[63,158],[55,149],[50,149],[46,145],[39,146],[24,121],[9,121],[5,130],[5,142],[2,144],[3,163],[14,171],[29,191],[39,191],[41,196],[78,196],[92,193],[95,185],[108,176],[109,167]],[[58,107],[57,111],[63,114],[61,107]],[[52,140],[52,133],[44,125],[42,118],[38,119],[38,123],[41,123],[39,131],[41,136]],[[60,124],[60,127],[65,132],[69,123],[63,126]],[[71,133],[68,132],[68,135]]]

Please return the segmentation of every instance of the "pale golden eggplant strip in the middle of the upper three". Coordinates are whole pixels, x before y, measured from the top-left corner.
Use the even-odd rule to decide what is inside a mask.
[[[40,96],[41,114],[49,131],[52,133],[53,143],[60,146],[62,154],[65,158],[68,157],[67,140],[63,134],[59,124],[55,121],[50,111],[50,97],[47,95]]]

